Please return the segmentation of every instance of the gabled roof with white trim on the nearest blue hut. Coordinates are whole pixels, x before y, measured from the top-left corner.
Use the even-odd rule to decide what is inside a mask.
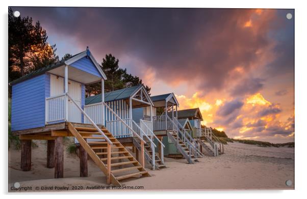
[[[35,77],[37,75],[41,75],[49,70],[52,70],[52,69],[55,69],[55,68],[58,68],[60,66],[63,66],[63,65],[70,65],[72,64],[73,62],[77,61],[77,60],[80,60],[81,58],[84,58],[84,56],[87,56],[89,54],[89,58],[92,60],[92,62],[94,63],[95,67],[97,68],[97,70],[99,71],[99,73],[101,74],[101,76],[106,80],[107,79],[107,76],[106,74],[103,72],[103,70],[101,70],[101,68],[99,67],[98,63],[96,62],[96,60],[94,59],[92,53],[89,51],[89,50],[85,50],[85,51],[82,51],[78,54],[74,54],[73,56],[71,56],[71,58],[67,59],[67,60],[62,60],[62,61],[59,61],[55,64],[50,64],[48,66],[45,66],[45,67],[42,67],[38,70],[35,70],[27,75],[24,75],[12,82],[10,82],[10,85],[13,85],[15,83],[18,83],[18,82],[21,82],[21,81],[24,81],[24,80],[27,80],[27,79],[30,79],[32,77]]]

